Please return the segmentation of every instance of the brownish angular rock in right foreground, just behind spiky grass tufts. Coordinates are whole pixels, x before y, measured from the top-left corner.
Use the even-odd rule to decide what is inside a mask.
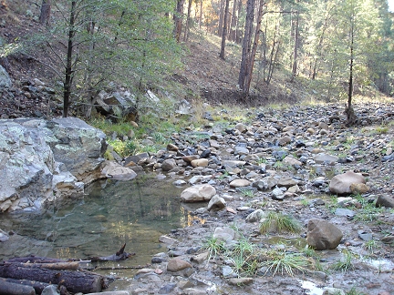
[[[310,219],[308,222],[306,242],[314,249],[336,249],[342,237],[342,231],[331,222],[323,219]]]

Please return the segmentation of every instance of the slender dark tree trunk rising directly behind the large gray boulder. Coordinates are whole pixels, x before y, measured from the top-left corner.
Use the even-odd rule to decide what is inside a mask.
[[[68,28],[68,42],[67,42],[67,63],[66,63],[66,76],[63,90],[63,117],[68,116],[68,106],[71,96],[71,86],[73,80],[73,38],[75,36],[75,14],[76,14],[77,1],[71,2],[71,11],[69,18],[69,28]]]

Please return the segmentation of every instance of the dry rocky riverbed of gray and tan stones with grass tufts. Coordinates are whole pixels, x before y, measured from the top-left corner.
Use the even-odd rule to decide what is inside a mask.
[[[185,208],[189,201],[210,200],[191,209],[189,227],[161,237],[168,251],[154,256],[151,268],[140,270],[126,289],[394,293],[394,107],[357,107],[358,127],[346,127],[342,112],[335,105],[260,109],[232,120],[223,109],[211,115],[230,123],[186,128],[154,157],[126,158],[126,167],[152,168],[158,179],[185,186]],[[333,184],[352,172],[362,185]],[[272,212],[295,220],[300,231],[263,232]],[[312,219],[340,229],[335,249],[308,249]],[[327,230],[330,239],[335,230]]]

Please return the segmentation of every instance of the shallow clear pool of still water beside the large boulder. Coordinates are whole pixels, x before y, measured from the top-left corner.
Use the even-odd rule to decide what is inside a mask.
[[[45,214],[0,214],[0,229],[17,234],[0,243],[0,259],[29,254],[59,259],[88,259],[114,254],[126,243],[131,259],[109,266],[134,267],[150,263],[168,249],[159,242],[171,229],[192,222],[180,202],[181,190],[171,179],[144,175],[127,182],[98,181],[88,195]],[[199,207],[202,205],[200,204]],[[22,237],[20,237],[22,236]],[[131,270],[103,271],[130,278]]]

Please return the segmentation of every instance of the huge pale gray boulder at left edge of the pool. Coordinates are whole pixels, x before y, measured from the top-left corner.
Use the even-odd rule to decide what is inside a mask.
[[[104,133],[76,117],[0,120],[0,211],[81,197],[106,148]]]

